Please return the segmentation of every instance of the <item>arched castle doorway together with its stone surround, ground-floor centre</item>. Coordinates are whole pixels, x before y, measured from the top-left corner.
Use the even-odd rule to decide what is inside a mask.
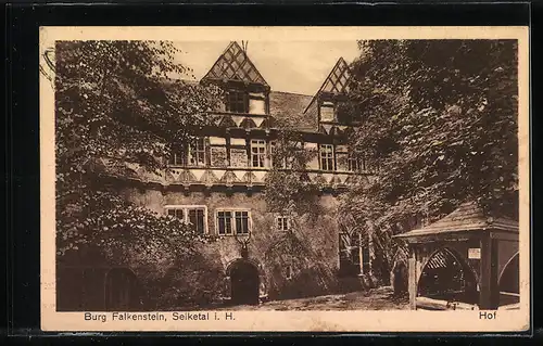
[[[265,273],[262,266],[253,259],[237,258],[226,267],[230,302],[235,305],[256,305],[266,290]]]

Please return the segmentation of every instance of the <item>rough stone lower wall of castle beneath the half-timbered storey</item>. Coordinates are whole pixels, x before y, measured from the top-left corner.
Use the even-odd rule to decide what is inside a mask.
[[[249,259],[261,273],[262,298],[278,299],[331,294],[338,291],[362,289],[364,280],[338,278],[339,240],[337,198],[324,194],[319,198],[319,213],[296,220],[293,232],[276,229],[276,214],[269,213],[264,192],[164,191],[160,188],[125,188],[121,192],[128,201],[156,213],[165,214],[165,206],[205,205],[207,232],[217,234],[216,214],[219,208],[247,208],[251,212],[252,238]],[[223,269],[223,292],[230,295],[227,268],[240,258],[240,244],[232,235],[222,235],[206,244],[204,252]]]

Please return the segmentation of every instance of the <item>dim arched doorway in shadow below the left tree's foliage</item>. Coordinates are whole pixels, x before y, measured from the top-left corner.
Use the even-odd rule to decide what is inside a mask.
[[[138,280],[126,268],[114,268],[105,274],[105,310],[135,310],[140,304]]]

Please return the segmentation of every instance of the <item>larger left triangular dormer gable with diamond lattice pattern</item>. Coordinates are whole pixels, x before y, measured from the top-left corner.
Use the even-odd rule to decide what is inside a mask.
[[[228,44],[224,53],[220,54],[210,72],[202,79],[240,80],[269,87],[245,51],[236,41]]]

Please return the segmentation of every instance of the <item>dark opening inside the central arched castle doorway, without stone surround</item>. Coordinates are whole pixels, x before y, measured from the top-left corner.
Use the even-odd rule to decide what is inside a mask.
[[[230,270],[231,302],[235,305],[258,304],[258,269],[248,261],[239,261]]]

